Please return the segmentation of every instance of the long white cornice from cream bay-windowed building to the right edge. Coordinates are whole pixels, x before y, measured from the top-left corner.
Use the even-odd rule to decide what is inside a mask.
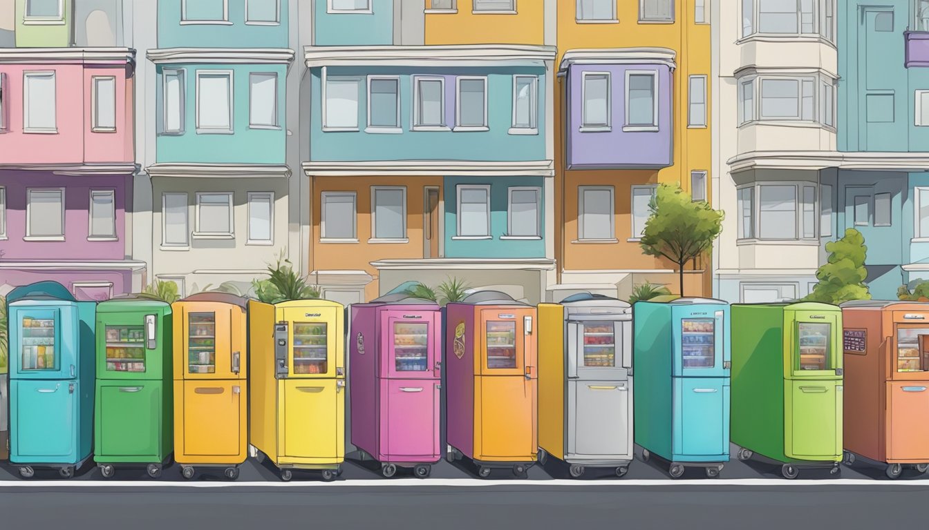
[[[726,161],[729,172],[750,169],[925,171],[929,152],[751,151]]]

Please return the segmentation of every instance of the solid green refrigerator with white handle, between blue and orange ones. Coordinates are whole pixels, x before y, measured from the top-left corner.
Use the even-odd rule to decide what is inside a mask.
[[[147,298],[97,305],[94,459],[110,478],[116,466],[161,475],[172,452],[171,305]]]

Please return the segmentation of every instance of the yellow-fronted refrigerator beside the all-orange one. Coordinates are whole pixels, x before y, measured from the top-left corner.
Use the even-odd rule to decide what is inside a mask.
[[[345,307],[327,300],[251,301],[252,455],[289,481],[334,480],[345,460]]]

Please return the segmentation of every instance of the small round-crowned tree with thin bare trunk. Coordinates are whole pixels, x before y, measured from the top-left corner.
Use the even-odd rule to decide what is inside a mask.
[[[651,215],[639,244],[642,252],[677,265],[684,296],[684,265],[706,252],[723,229],[723,213],[704,200],[691,200],[679,186],[660,184],[648,203]]]

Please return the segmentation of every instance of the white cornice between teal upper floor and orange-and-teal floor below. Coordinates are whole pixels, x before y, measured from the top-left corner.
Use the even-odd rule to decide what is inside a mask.
[[[555,164],[550,160],[304,162],[303,171],[307,176],[555,176]]]

